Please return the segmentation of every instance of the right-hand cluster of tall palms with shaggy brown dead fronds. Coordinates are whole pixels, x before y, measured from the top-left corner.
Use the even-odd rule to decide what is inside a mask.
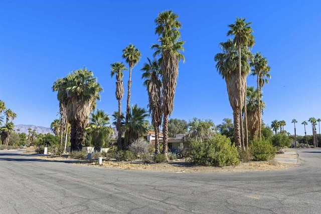
[[[222,53],[214,57],[217,62],[216,69],[226,82],[230,105],[233,109],[234,141],[239,150],[248,148],[248,130],[252,138],[257,136],[257,132],[258,137],[261,138],[261,114],[264,107],[261,102],[262,87],[270,78],[270,67],[267,65],[266,58],[260,53],[254,56],[251,53],[254,37],[250,25],[251,23],[245,22],[245,19],[236,18],[235,23],[229,25],[230,30],[227,32],[227,36],[234,36],[234,38],[220,43]],[[247,91],[254,90],[247,89],[246,84],[246,77],[250,74],[251,68],[251,74],[257,76],[257,98],[247,98]],[[249,119],[251,121],[248,121]]]

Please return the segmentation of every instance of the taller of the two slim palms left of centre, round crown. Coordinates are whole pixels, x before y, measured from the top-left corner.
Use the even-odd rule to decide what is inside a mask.
[[[127,107],[126,107],[126,123],[128,121],[127,114],[130,110],[130,87],[131,87],[131,71],[134,66],[138,63],[140,58],[139,50],[132,44],[129,44],[125,49],[122,50],[122,58],[126,60],[129,66],[129,79],[128,79],[128,93],[127,93]]]

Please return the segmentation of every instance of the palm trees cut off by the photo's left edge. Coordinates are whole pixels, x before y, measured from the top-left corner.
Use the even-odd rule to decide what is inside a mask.
[[[13,132],[15,125],[13,123],[13,120],[17,117],[17,114],[13,112],[11,109],[6,108],[6,104],[4,101],[0,100],[0,115],[4,112],[6,116],[6,123],[4,126],[2,126],[2,123],[4,122],[4,117],[0,116],[0,135],[1,135],[1,141],[2,144],[8,146],[10,135]],[[11,121],[10,121],[11,120]]]

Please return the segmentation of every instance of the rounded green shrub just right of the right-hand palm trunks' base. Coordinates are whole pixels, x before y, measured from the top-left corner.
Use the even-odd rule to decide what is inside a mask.
[[[268,140],[255,139],[249,143],[249,151],[253,160],[266,161],[275,157],[275,149]]]

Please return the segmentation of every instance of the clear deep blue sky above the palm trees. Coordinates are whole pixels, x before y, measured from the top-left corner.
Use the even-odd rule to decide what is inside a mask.
[[[242,17],[252,22],[252,52],[261,52],[271,67],[262,119],[285,120],[284,129],[294,133],[295,118],[297,134],[304,135],[301,122],[321,117],[320,8],[320,1],[0,0],[0,99],[17,113],[15,124],[49,127],[59,118],[54,81],[85,66],[104,89],[97,107],[112,114],[117,100],[110,64],[124,61],[122,49],[132,43],[142,57],[133,69],[131,103],[146,107],[140,69],[157,43],[155,18],[172,10],[182,23],[186,62],[179,67],[171,117],[220,124],[232,118],[232,109],[214,56],[229,39],[228,25]],[[255,77],[247,80],[256,86]],[[125,90],[123,111],[126,96]]]

